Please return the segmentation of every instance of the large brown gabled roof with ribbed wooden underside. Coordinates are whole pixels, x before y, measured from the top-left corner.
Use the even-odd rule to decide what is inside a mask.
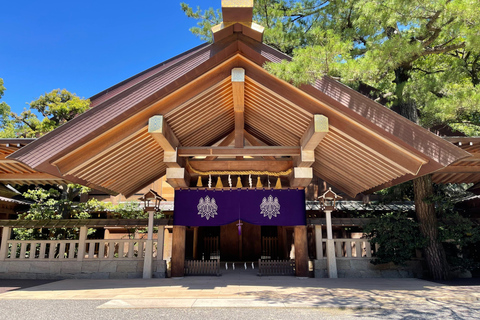
[[[162,114],[182,146],[209,146],[234,128],[230,75],[245,70],[245,130],[273,146],[299,144],[315,114],[330,130],[314,172],[349,195],[438,170],[468,153],[325,77],[296,88],[263,68],[290,59],[233,33],[148,69],[91,98],[92,109],[9,156],[35,170],[129,195],[165,174],[148,134]]]

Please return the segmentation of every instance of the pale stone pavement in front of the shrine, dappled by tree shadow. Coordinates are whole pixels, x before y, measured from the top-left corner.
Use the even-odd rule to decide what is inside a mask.
[[[0,282],[1,286],[1,282]],[[70,279],[0,294],[0,300],[108,300],[100,308],[396,308],[432,302],[480,306],[479,286],[419,279],[298,279],[226,273],[180,279]]]

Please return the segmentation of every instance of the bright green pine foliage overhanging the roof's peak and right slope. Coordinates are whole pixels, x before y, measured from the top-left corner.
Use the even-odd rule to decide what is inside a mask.
[[[221,20],[193,11],[211,40]],[[474,0],[257,0],[264,42],[293,56],[266,64],[295,85],[333,76],[427,128],[480,135],[480,6]]]

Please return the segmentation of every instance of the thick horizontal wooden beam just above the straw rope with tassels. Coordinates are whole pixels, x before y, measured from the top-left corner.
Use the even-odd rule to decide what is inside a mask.
[[[280,172],[286,171],[292,168],[292,160],[194,160],[189,159],[190,166],[198,171],[246,171],[246,170],[258,170],[258,171],[271,171]]]

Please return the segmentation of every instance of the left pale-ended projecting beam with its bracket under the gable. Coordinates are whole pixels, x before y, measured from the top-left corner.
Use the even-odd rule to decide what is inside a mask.
[[[163,162],[170,168],[181,168],[184,162],[177,159],[177,147],[180,142],[163,115],[153,116],[148,120],[148,133],[163,149]]]

